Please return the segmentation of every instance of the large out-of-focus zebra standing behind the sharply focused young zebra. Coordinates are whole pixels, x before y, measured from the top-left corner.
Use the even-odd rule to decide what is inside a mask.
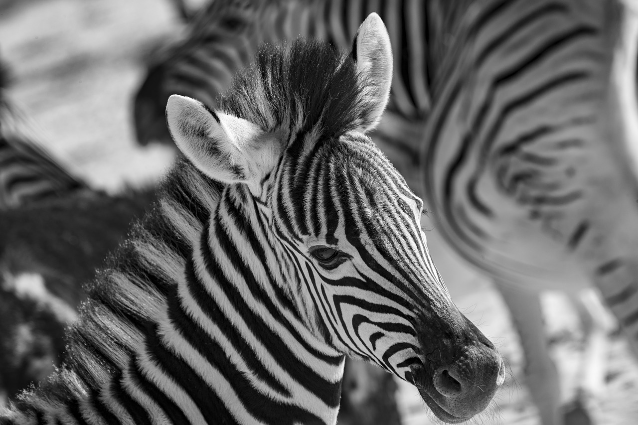
[[[259,42],[302,33],[344,46],[371,10],[388,22],[395,66],[373,140],[421,191],[450,246],[496,282],[544,424],[560,423],[538,292],[587,292],[595,282],[632,343],[638,335],[635,273],[620,255],[634,225],[618,226],[633,220],[635,165],[627,145],[605,142],[616,121],[600,116],[609,116],[607,93],[618,93],[607,80],[623,47],[614,44],[618,2],[212,2],[149,70],[135,101],[138,140],[167,140],[152,110],[172,93],[214,105]],[[619,117],[627,110],[609,106]],[[590,338],[600,339],[604,313],[591,293],[580,297],[598,332]],[[602,386],[602,366],[584,367]]]

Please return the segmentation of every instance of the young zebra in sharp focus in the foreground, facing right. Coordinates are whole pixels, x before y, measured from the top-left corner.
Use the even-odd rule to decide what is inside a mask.
[[[416,385],[445,422],[491,403],[503,360],[364,133],[392,75],[378,15],[352,46],[266,45],[215,109],[168,99],[186,160],[89,286],[66,367],[0,424],[334,424],[346,355]]]

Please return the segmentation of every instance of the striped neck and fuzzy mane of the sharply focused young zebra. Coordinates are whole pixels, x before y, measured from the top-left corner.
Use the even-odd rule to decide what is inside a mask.
[[[336,422],[343,354],[312,331],[254,199],[229,189],[175,168],[89,288],[66,366],[0,423]]]

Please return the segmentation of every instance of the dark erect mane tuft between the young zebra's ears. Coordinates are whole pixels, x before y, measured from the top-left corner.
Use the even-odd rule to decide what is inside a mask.
[[[325,138],[360,126],[359,117],[370,107],[352,57],[302,39],[290,48],[261,47],[255,61],[219,98],[220,110],[265,131],[290,126],[305,132],[320,124]]]

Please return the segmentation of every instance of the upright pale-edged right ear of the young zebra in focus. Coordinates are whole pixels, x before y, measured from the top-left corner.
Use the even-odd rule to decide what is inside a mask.
[[[368,105],[361,117],[363,130],[373,130],[390,98],[393,60],[388,30],[376,13],[370,13],[359,26],[352,42],[352,59]]]

